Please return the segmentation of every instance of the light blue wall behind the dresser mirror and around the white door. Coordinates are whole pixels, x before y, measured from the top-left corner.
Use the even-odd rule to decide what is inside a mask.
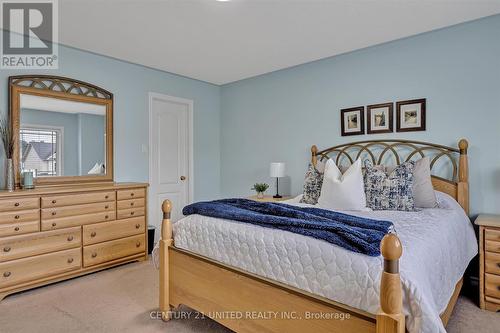
[[[146,52],[146,51],[145,51]],[[148,181],[148,92],[194,100],[194,199],[220,191],[220,87],[60,46],[58,70],[0,70],[0,115],[8,110],[10,75],[51,74],[101,86],[114,94],[116,181]],[[0,180],[5,181],[0,149]]]

